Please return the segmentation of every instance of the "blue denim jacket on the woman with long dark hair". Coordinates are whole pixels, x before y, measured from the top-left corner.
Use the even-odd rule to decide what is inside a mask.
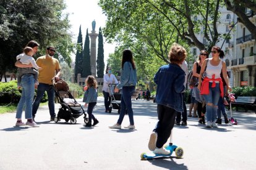
[[[123,86],[136,86],[136,84],[137,70],[132,68],[132,63],[125,62],[121,72],[121,81],[116,87],[121,89]]]

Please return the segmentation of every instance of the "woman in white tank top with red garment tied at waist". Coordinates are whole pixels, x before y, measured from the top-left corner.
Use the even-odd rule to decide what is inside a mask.
[[[221,60],[224,57],[224,52],[220,47],[213,46],[211,48],[211,56],[211,59],[205,59],[203,62],[198,83],[198,89],[200,89],[200,93],[203,94],[207,103],[207,128],[218,127],[215,123],[218,101],[220,96],[223,97],[224,94],[223,82],[220,77],[221,71],[227,87],[229,91],[231,91],[226,71],[226,64]],[[204,71],[206,72],[206,76],[203,78],[202,82],[202,76],[205,75]]]

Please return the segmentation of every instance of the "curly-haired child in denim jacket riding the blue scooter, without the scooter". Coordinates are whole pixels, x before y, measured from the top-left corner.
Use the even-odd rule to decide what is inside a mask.
[[[184,86],[186,74],[181,64],[186,56],[186,49],[174,43],[168,55],[170,63],[160,67],[154,77],[157,84],[156,103],[159,121],[148,142],[148,148],[154,153],[170,154],[170,151],[166,150],[163,145],[171,135],[177,111],[183,111],[181,93],[186,89]]]

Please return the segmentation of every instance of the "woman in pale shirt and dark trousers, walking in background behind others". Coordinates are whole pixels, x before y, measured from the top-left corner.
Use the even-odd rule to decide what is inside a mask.
[[[116,77],[113,74],[111,74],[111,67],[107,67],[106,74],[104,75],[103,80],[104,80],[104,83],[103,83],[102,91],[103,91],[103,95],[104,95],[104,103],[105,103],[105,108],[106,108],[105,112],[108,112],[109,105],[111,102],[108,84],[113,84],[113,83],[117,84],[118,83]]]

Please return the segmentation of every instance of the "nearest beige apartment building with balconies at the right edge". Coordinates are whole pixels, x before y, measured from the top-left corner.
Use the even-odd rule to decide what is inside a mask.
[[[249,20],[256,25],[256,15],[250,9],[245,9]],[[236,17],[237,20],[237,17]],[[234,87],[256,86],[256,44],[247,28],[240,22],[236,24],[236,39],[234,57],[229,69],[232,70]]]

